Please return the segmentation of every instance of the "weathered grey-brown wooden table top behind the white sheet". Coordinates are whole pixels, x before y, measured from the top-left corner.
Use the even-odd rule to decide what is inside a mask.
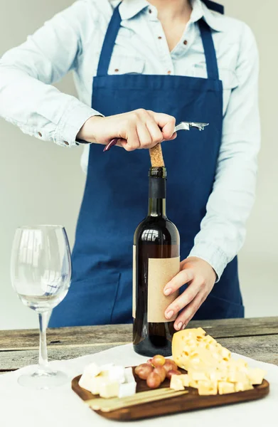
[[[278,365],[278,317],[191,322],[232,352]],[[73,359],[132,342],[132,325],[48,330],[50,360]],[[38,361],[38,330],[0,331],[0,372]]]

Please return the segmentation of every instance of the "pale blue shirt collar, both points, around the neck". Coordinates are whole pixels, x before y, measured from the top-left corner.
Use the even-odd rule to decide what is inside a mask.
[[[213,30],[224,30],[223,16],[221,14],[210,11],[210,9],[208,9],[208,7],[205,6],[201,0],[191,0],[191,4],[193,9],[191,14],[191,22],[198,22],[203,18]],[[149,6],[150,4],[147,0],[122,0],[119,6],[119,13],[122,20],[132,19],[134,16],[139,14],[139,12]]]

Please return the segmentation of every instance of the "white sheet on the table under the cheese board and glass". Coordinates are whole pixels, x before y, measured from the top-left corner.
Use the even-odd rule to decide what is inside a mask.
[[[240,357],[233,354],[233,357]],[[259,401],[202,409],[177,415],[151,418],[144,421],[124,422],[124,426],[151,427],[278,427],[278,367],[272,364],[247,360],[250,367],[267,371],[270,394]],[[134,353],[132,344],[114,347],[97,354],[68,361],[51,362],[53,369],[65,371],[70,379],[82,374],[90,362],[124,364],[143,363],[146,357]],[[87,408],[71,390],[70,381],[52,390],[30,390],[17,384],[19,375],[32,370],[19,369],[0,376],[0,426],[1,427],[112,427],[118,421],[109,421]]]

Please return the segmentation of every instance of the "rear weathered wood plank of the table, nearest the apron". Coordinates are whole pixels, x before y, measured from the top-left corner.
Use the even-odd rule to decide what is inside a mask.
[[[203,327],[215,338],[250,337],[278,334],[278,317],[227,319],[191,322],[188,327]],[[131,342],[132,325],[65,327],[48,330],[48,345],[60,347],[89,346],[112,342]],[[16,349],[37,349],[38,330],[0,331],[0,352]]]

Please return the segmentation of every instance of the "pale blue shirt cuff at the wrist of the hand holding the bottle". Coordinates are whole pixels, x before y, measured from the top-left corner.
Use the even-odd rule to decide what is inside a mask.
[[[214,243],[205,241],[196,243],[188,256],[196,256],[209,263],[217,275],[216,283],[219,282],[228,264],[228,257],[222,249]]]

